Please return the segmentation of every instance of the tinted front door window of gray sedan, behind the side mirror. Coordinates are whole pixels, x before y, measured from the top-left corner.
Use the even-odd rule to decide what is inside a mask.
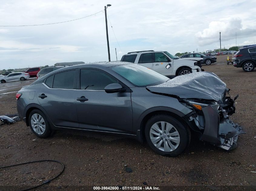
[[[81,90],[104,90],[108,84],[117,83],[118,80],[112,76],[93,69],[81,69],[80,89]]]

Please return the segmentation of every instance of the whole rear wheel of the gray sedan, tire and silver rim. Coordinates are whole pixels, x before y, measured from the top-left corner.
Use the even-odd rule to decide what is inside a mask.
[[[51,127],[50,124],[45,116],[45,114],[40,110],[33,110],[29,114],[29,126],[32,130],[32,132],[40,137],[40,138],[46,138],[49,135],[51,135]]]

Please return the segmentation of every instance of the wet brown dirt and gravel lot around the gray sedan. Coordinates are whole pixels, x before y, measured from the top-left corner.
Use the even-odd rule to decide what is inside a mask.
[[[65,171],[48,186],[68,189],[72,186],[233,186],[228,189],[253,190],[255,179],[255,123],[256,88],[254,72],[243,72],[225,62],[226,56],[217,56],[218,62],[203,65],[205,71],[217,74],[231,89],[237,110],[232,119],[244,126],[247,134],[238,139],[238,148],[226,152],[208,143],[192,138],[191,144],[175,158],[155,154],[147,144],[136,140],[84,132],[55,132],[47,139],[37,138],[23,121],[0,126],[0,166],[43,159],[58,160]],[[223,63],[222,62],[222,63]],[[15,82],[0,84],[0,115],[17,113],[15,91],[30,84]],[[13,93],[8,93],[13,92]],[[8,94],[3,94],[8,93]],[[132,169],[128,173],[125,165]],[[61,171],[61,165],[52,162],[28,164],[0,169],[0,186],[38,185]],[[40,181],[41,180],[41,181]],[[143,184],[144,183],[144,184]],[[42,186],[44,190],[50,187]],[[201,187],[195,187],[198,189]],[[6,189],[13,190],[12,187]],[[239,190],[238,189],[238,190]],[[184,189],[185,190],[185,189]]]

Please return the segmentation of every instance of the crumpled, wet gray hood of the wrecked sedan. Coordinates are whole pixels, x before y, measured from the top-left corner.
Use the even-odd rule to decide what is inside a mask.
[[[176,95],[180,98],[222,100],[228,91],[226,84],[211,72],[196,72],[177,76],[163,84],[148,86],[149,91]]]

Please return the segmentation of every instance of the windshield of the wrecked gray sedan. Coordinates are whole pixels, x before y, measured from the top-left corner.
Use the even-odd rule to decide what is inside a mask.
[[[166,76],[138,64],[113,66],[111,69],[136,87],[145,88],[159,85],[169,80]]]

